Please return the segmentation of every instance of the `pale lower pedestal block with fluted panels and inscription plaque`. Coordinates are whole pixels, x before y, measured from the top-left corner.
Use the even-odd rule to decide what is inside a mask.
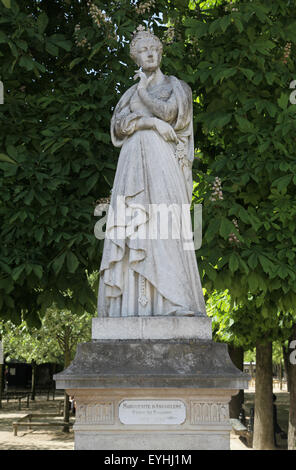
[[[77,450],[229,449],[235,390],[68,390]]]

